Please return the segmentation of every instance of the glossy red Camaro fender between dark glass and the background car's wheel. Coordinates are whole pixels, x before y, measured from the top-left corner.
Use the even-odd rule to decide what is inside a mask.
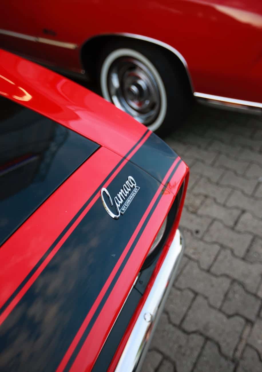
[[[0,94],[124,156],[146,128],[97,94],[0,50]]]

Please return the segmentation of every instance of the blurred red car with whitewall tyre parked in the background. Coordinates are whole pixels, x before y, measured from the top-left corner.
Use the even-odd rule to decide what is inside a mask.
[[[96,78],[149,129],[174,128],[191,98],[262,108],[261,0],[1,1],[0,46]]]

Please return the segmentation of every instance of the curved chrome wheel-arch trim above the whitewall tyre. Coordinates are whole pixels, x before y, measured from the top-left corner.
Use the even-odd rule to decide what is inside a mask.
[[[94,38],[98,38],[100,36],[110,36],[110,35],[111,36],[125,36],[127,38],[148,41],[152,44],[156,44],[156,45],[159,45],[160,47],[168,49],[170,52],[175,54],[179,58],[179,60],[182,62],[182,64],[184,65],[185,70],[187,72],[187,76],[188,76],[188,80],[189,80],[189,83],[190,83],[190,86],[191,86],[192,93],[194,92],[194,86],[193,86],[193,82],[192,82],[192,79],[191,79],[191,76],[190,76],[190,72],[188,70],[187,61],[185,60],[185,58],[182,56],[182,54],[177,49],[175,49],[174,47],[171,47],[171,45],[166,44],[163,41],[160,41],[160,40],[157,40],[157,39],[154,39],[154,38],[150,38],[149,36],[137,35],[135,33],[115,32],[115,33],[103,33],[103,34],[100,34],[100,35],[95,35],[95,36],[91,37],[90,39],[88,39],[84,44],[86,44],[88,41],[90,41]]]

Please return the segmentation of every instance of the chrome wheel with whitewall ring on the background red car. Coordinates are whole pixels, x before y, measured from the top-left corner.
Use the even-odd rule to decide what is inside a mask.
[[[112,51],[101,66],[103,96],[155,131],[166,114],[166,91],[158,71],[133,49]]]

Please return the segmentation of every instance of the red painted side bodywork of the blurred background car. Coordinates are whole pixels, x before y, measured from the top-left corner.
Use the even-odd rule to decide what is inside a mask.
[[[260,0],[29,0],[26,8],[5,1],[0,15],[2,29],[78,45],[65,49],[0,35],[0,45],[51,65],[80,71],[88,39],[133,33],[177,49],[195,92],[262,102]]]

